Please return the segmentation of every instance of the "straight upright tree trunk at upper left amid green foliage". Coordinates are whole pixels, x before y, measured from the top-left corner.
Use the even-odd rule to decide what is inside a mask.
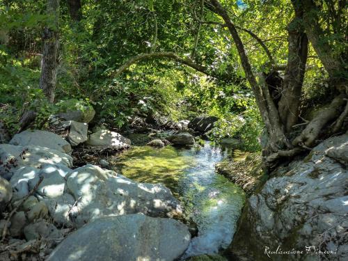
[[[45,93],[49,102],[54,101],[56,89],[56,77],[58,67],[58,11],[59,0],[47,0],[47,15],[53,17],[54,23],[45,27],[42,52],[42,68],[40,76],[40,88]]]

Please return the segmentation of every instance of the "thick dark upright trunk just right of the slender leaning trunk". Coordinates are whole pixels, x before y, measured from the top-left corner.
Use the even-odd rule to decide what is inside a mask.
[[[292,126],[296,125],[299,118],[301,90],[308,56],[308,38],[300,25],[300,19],[301,17],[296,17],[288,26],[287,68],[285,69],[282,95],[278,103],[280,120],[283,122],[287,134],[292,132]]]

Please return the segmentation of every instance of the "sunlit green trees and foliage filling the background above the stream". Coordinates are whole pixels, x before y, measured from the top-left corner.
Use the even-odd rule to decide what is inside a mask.
[[[1,118],[17,132],[35,111],[45,127],[70,99],[123,129],[136,116],[218,116],[212,138],[238,137],[248,150],[260,150],[264,129],[272,165],[347,128],[345,5],[2,0]]]

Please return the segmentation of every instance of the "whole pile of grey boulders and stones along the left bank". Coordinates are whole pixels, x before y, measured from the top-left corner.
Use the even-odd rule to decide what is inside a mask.
[[[126,148],[130,141],[108,130],[88,137],[87,122],[64,116],[56,126],[70,129],[68,141],[52,132],[27,130],[10,144],[0,144],[0,209],[16,210],[9,222],[2,216],[0,232],[6,229],[18,251],[45,243],[44,256],[63,239],[49,260],[97,260],[96,254],[99,260],[179,258],[190,234],[184,224],[163,218],[182,212],[171,191],[91,164],[72,169],[70,154],[79,143]],[[0,260],[10,260],[7,254],[1,253]]]

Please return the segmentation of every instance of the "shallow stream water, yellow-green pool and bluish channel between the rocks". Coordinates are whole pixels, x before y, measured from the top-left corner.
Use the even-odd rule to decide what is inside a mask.
[[[185,215],[197,224],[198,236],[183,258],[217,253],[232,242],[245,196],[237,185],[215,173],[215,164],[225,157],[227,150],[208,142],[192,148],[135,147],[118,156],[122,175],[166,185],[182,201]]]

